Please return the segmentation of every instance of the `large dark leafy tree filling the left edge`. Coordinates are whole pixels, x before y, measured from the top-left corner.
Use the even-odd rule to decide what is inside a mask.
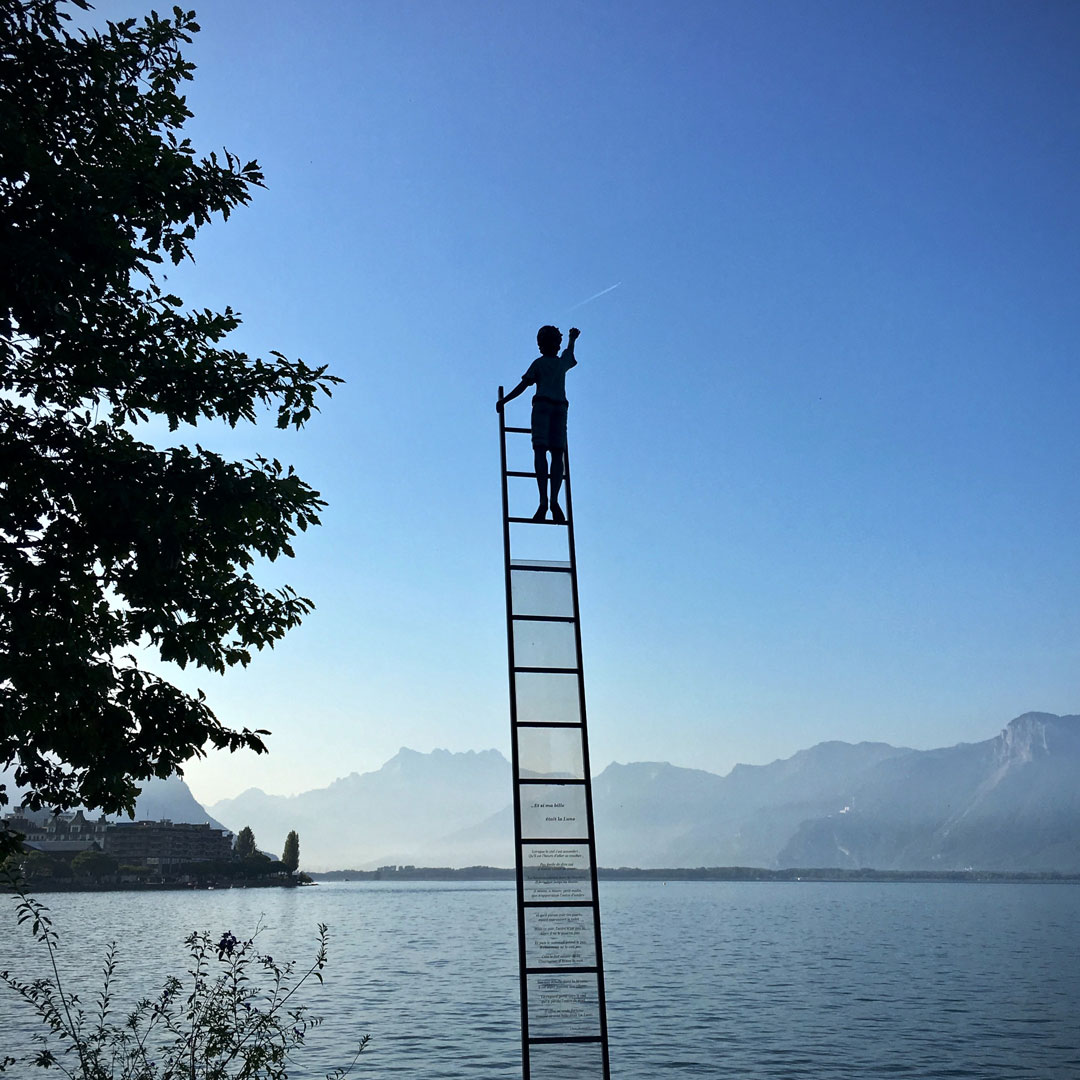
[[[220,673],[272,646],[312,605],[251,568],[292,556],[323,507],[275,460],[139,426],[269,409],[300,428],[339,380],[227,348],[235,312],[167,289],[197,230],[262,186],[183,137],[193,13],[72,35],[71,5],[90,6],[0,0],[0,769],[36,809],[116,813],[207,746],[266,748],[134,653]]]

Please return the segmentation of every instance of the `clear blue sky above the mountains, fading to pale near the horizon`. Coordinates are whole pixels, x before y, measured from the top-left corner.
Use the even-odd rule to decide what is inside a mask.
[[[1080,6],[197,10],[189,132],[269,190],[172,281],[348,380],[199,432],[329,501],[264,579],[316,612],[197,680],[273,731],[204,801],[508,751],[494,402],[549,322],[595,768],[1080,711]]]

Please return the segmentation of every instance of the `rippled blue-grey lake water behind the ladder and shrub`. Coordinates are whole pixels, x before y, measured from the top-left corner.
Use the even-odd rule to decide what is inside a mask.
[[[45,900],[64,964],[98,968],[114,937],[132,996],[184,971],[189,930],[261,918],[265,949],[299,958],[329,923],[308,999],[326,1024],[296,1077],[366,1032],[359,1078],[521,1076],[512,885]],[[602,904],[616,1080],[1080,1077],[1078,887],[609,882]],[[4,916],[0,969],[32,975],[36,958]],[[0,1051],[27,1031],[0,988]]]

